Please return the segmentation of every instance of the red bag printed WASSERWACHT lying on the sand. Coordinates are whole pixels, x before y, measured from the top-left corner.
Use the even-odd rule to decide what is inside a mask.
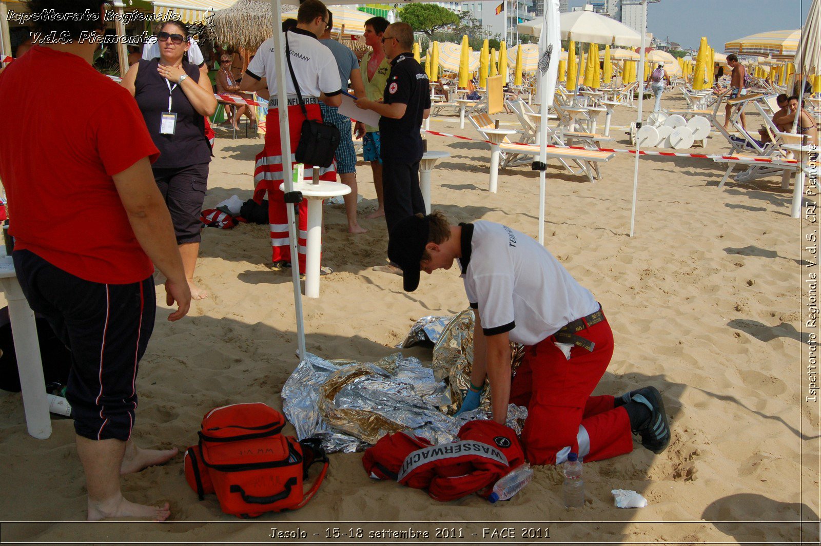
[[[525,461],[516,433],[495,421],[470,421],[458,436],[457,442],[432,446],[424,438],[390,434],[365,452],[362,463],[372,478],[397,479],[450,501],[470,493],[486,496],[499,478]]]

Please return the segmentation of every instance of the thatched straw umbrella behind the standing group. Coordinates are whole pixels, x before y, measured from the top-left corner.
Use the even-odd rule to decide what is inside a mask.
[[[288,9],[293,7],[282,5],[282,11]],[[271,2],[238,0],[232,7],[215,12],[213,34],[218,44],[228,48],[256,51],[273,34]]]

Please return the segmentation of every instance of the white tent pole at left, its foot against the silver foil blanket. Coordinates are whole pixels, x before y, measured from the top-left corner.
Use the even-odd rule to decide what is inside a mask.
[[[285,192],[293,191],[291,175],[291,130],[288,127],[288,90],[285,74],[285,33],[282,32],[279,14],[282,13],[281,0],[271,0],[273,18],[273,35],[277,42],[277,98],[279,102],[279,137],[282,142],[282,177],[285,181]],[[268,127],[268,131],[273,127]],[[299,240],[297,239],[296,214],[294,205],[285,204],[288,213],[288,239],[291,241],[291,282],[294,285],[294,309],[296,310],[296,342],[299,347],[299,359],[305,358],[305,323],[302,319],[302,292],[300,291]]]

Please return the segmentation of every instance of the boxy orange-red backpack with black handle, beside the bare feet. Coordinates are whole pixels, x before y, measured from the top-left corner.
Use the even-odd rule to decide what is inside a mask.
[[[200,500],[216,493],[222,512],[256,517],[296,510],[314,496],[328,471],[319,441],[297,442],[281,434],[279,411],[255,402],[215,408],[203,417],[200,443],[186,450],[186,481]],[[319,477],[303,490],[308,470],[322,462]]]

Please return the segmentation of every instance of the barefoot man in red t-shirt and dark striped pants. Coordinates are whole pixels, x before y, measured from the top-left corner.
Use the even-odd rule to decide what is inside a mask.
[[[167,282],[169,320],[188,312],[190,290],[171,217],[154,183],[158,157],[134,99],[91,66],[102,34],[103,0],[36,0],[31,10],[76,13],[36,21],[44,36],[0,75],[0,179],[7,191],[17,278],[31,308],[44,314],[71,351],[66,397],[85,471],[88,519],[135,516],[163,521],[168,504],[126,501],[120,475],[177,454],[131,441],[137,365],[152,329],[154,266]],[[100,13],[97,21],[85,11]],[[85,108],[65,108],[53,89],[31,85],[48,74],[80,89]],[[154,263],[154,266],[152,265]]]

